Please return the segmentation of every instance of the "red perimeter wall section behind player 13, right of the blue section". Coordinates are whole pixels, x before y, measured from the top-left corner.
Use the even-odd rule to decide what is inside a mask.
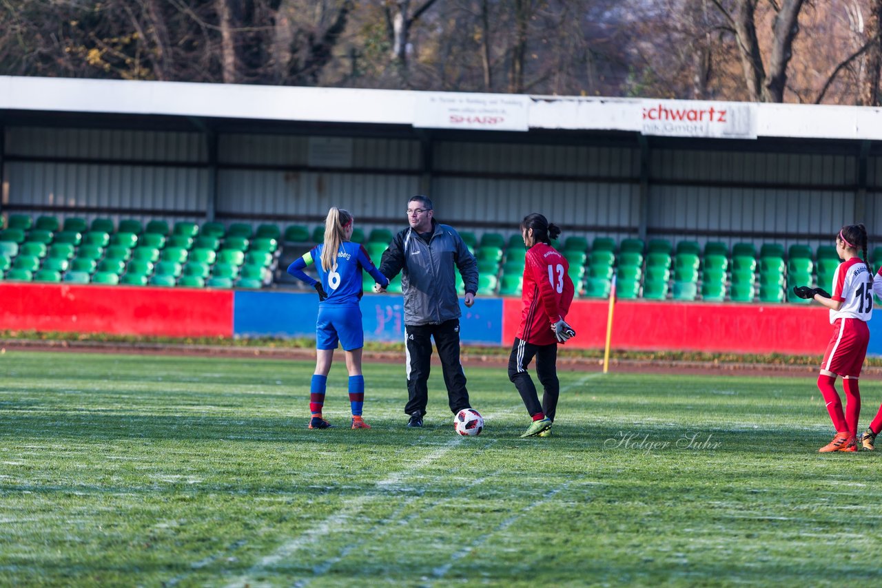
[[[503,340],[520,324],[520,301],[506,300]],[[609,301],[574,301],[567,316],[578,336],[566,346],[603,348]],[[709,353],[823,354],[830,339],[828,310],[790,304],[618,301],[613,349]]]

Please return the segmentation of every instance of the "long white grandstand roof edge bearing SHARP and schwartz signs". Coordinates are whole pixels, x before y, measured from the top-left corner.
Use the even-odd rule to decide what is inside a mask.
[[[682,138],[882,139],[882,108],[0,76],[0,116],[152,115]]]

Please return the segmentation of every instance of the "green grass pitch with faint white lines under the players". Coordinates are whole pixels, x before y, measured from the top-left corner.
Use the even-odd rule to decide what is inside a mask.
[[[564,372],[556,435],[504,369],[440,369],[405,428],[403,364],[0,355],[0,585],[841,585],[878,578],[882,451],[818,454],[814,378]],[[861,425],[882,401],[865,378]]]

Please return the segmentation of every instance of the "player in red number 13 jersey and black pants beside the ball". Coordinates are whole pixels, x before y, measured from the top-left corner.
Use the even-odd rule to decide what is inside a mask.
[[[550,244],[551,239],[557,239],[560,234],[557,225],[534,212],[520,221],[520,234],[527,247],[521,294],[523,310],[508,360],[508,378],[518,389],[527,413],[533,419],[527,432],[520,436],[547,436],[551,432],[560,392],[557,343],[564,343],[576,334],[564,321],[575,288],[568,273],[570,264]],[[527,366],[534,356],[536,375],[544,389],[542,404],[533,379],[527,373]]]

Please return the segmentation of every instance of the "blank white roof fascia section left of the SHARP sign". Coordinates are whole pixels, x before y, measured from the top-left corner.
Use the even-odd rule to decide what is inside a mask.
[[[412,93],[295,86],[0,76],[0,109],[411,124]]]

